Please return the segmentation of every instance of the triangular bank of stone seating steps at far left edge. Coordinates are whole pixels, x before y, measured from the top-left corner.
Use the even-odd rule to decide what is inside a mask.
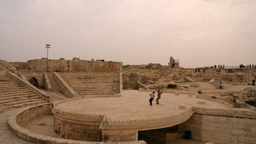
[[[7,75],[6,70],[0,70],[0,113],[22,106],[47,102],[25,85],[12,79]]]

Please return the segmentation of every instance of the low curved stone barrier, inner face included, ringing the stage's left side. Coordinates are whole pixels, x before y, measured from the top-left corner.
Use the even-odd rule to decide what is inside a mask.
[[[146,144],[144,141],[136,142],[86,142],[78,140],[68,140],[63,138],[48,137],[40,135],[30,130],[24,129],[21,125],[29,121],[32,121],[36,117],[45,116],[51,114],[53,103],[40,104],[30,108],[22,109],[13,116],[9,117],[9,129],[18,137],[27,140],[32,143],[39,144]]]

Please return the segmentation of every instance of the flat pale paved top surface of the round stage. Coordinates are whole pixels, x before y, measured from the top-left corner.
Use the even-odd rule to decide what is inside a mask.
[[[78,112],[82,114],[104,114],[113,121],[155,119],[176,115],[187,109],[179,109],[179,104],[186,106],[199,106],[213,109],[229,109],[223,104],[198,99],[189,95],[174,95],[163,93],[160,104],[149,105],[150,92],[126,90],[121,97],[117,98],[90,98],[83,100],[72,100],[58,104],[59,109]],[[205,101],[206,104],[198,104],[198,101]]]

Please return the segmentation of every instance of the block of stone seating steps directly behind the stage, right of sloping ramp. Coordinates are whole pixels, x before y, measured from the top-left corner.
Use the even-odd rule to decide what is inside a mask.
[[[113,74],[62,73],[61,75],[80,96],[114,94]]]

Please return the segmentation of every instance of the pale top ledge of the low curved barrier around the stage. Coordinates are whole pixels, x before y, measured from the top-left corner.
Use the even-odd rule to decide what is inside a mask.
[[[85,141],[78,141],[78,140],[67,140],[62,138],[54,138],[48,137],[45,135],[40,135],[38,133],[30,132],[27,129],[24,129],[17,123],[17,119],[22,117],[22,114],[25,112],[33,111],[34,109],[38,109],[38,107],[49,106],[49,109],[52,106],[52,103],[40,104],[38,106],[33,106],[30,108],[22,109],[21,111],[17,112],[13,116],[9,117],[9,129],[12,133],[17,135],[18,137],[28,140],[29,142],[33,143],[42,143],[42,144],[146,144],[144,141],[136,141],[136,142],[85,142]]]

